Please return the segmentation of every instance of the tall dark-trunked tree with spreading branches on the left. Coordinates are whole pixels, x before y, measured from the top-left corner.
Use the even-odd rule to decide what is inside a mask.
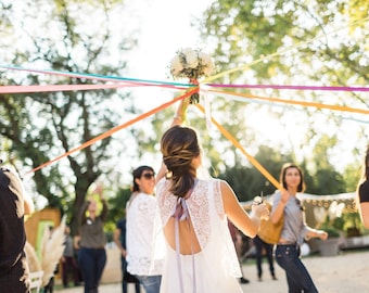
[[[122,76],[126,66],[124,52],[130,50],[136,40],[125,37],[122,31],[120,38],[116,38],[112,22],[123,9],[117,2],[38,0],[9,4],[2,11],[7,17],[1,23],[7,20],[7,26],[3,25],[5,30],[2,31],[1,63],[55,72]],[[120,24],[124,26],[122,20]],[[97,81],[2,72],[1,84],[77,85]],[[0,131],[7,138],[2,143],[8,143],[9,158],[22,166],[17,167],[20,169],[39,167],[116,126],[125,109],[135,112],[127,98],[127,93],[115,90],[1,94]],[[34,175],[37,192],[48,200],[49,206],[72,216],[75,231],[75,216],[89,187],[100,180],[109,192],[110,178],[106,175],[113,177],[116,157],[124,148],[127,146],[123,143],[117,148],[117,141],[107,137],[58,164],[37,170]]]

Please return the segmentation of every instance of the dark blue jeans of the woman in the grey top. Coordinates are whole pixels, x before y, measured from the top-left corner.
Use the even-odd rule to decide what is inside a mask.
[[[300,247],[277,245],[277,264],[284,269],[290,293],[318,293],[310,275],[300,258]]]

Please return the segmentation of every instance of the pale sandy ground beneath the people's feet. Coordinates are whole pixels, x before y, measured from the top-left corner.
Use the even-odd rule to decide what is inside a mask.
[[[321,293],[365,293],[369,292],[369,251],[346,251],[338,256],[322,257],[310,256],[304,258],[304,264],[309,270],[319,292]],[[263,281],[257,281],[256,266],[246,264],[243,266],[245,277],[250,283],[242,284],[243,292],[251,293],[287,293],[284,272],[276,264],[278,280],[271,280],[266,259],[263,263]],[[122,293],[120,283],[102,284],[101,293]],[[62,293],[82,293],[82,288],[56,290]],[[129,285],[129,293],[133,293],[133,286]],[[141,291],[143,292],[143,290]],[[175,293],[175,292],[174,292]],[[231,293],[231,292],[225,292]]]

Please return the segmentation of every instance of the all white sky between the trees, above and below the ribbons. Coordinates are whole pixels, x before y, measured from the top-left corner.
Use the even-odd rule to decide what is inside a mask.
[[[138,0],[127,2],[125,13],[132,18],[131,26],[139,28],[139,42],[128,55],[127,77],[160,81],[175,81],[168,65],[178,49],[203,48],[199,31],[191,26],[192,17],[200,17],[213,0]],[[120,16],[119,16],[120,17]],[[136,104],[144,112],[173,99],[180,92],[158,88],[137,88],[132,90]],[[175,111],[175,105],[173,106]],[[150,119],[147,119],[150,120]],[[139,123],[147,123],[139,122]],[[127,142],[125,142],[127,143]],[[143,156],[131,165],[161,165],[160,154]],[[130,182],[130,166],[123,164],[124,181]]]

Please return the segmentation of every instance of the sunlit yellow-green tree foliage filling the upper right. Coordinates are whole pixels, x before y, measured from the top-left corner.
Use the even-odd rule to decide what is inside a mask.
[[[199,27],[205,42],[214,48],[218,67],[227,73],[219,75],[217,81],[365,86],[369,79],[368,5],[364,0],[316,0],[308,5],[292,0],[219,0],[213,2],[205,12]],[[366,92],[234,91],[357,109],[369,107]],[[238,133],[238,138],[253,149],[263,138],[263,144],[277,145],[281,152],[301,157],[308,155],[315,142],[333,130],[333,135],[341,138],[332,145],[334,152],[329,156],[333,164],[342,158],[340,149],[344,149],[343,144],[352,148],[345,148],[346,160],[352,162],[357,158],[357,148],[362,149],[360,145],[367,143],[365,115],[315,107],[257,104],[253,99],[245,101],[247,103],[222,99],[222,105],[218,109],[222,113],[221,123],[230,120],[237,125],[237,122],[243,119],[249,126],[249,132],[247,136],[245,132]],[[238,111],[224,111],[224,105]],[[252,126],[250,118],[254,113],[253,119],[258,118],[256,126]],[[257,130],[262,125],[267,126],[263,128],[266,129],[265,133]],[[250,135],[251,128],[256,141]],[[301,130],[297,132],[297,129]],[[276,137],[282,141],[281,144],[276,142]]]

